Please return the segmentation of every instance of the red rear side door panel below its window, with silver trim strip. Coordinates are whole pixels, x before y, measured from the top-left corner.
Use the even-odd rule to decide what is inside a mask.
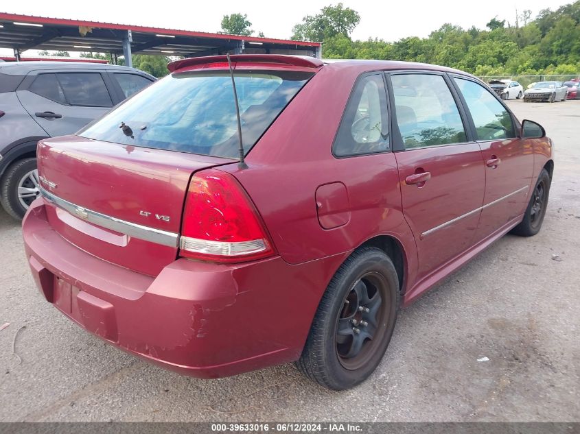
[[[472,245],[485,171],[477,143],[409,149],[395,155],[404,215],[417,243],[417,279],[421,279]],[[422,171],[431,174],[424,185],[406,184],[407,176]]]

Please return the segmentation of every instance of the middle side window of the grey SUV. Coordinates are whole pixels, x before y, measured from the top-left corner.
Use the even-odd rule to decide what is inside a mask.
[[[100,73],[58,73],[58,81],[73,106],[112,107]]]

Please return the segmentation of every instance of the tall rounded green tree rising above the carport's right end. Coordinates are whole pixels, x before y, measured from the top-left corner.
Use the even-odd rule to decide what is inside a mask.
[[[345,8],[343,3],[329,5],[316,15],[307,15],[302,23],[292,27],[292,39],[325,42],[329,38],[342,35],[350,38],[353,29],[360,23],[356,10]]]

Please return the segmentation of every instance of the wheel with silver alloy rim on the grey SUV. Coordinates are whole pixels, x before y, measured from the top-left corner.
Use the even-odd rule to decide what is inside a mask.
[[[29,193],[21,193],[19,189],[27,189]],[[36,158],[24,158],[13,162],[6,169],[1,181],[0,203],[6,213],[14,219],[21,220],[28,206],[40,195],[38,190],[38,171]]]

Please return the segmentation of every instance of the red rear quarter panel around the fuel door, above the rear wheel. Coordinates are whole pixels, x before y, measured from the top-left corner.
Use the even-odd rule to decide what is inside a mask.
[[[404,250],[406,276],[415,274],[415,240],[402,214],[394,154],[334,158],[332,142],[358,69],[319,71],[248,154],[248,169],[220,169],[244,186],[291,264],[349,252],[377,235],[395,237]],[[347,224],[326,230],[316,213],[318,186],[347,187]],[[324,288],[327,282],[321,286]]]

